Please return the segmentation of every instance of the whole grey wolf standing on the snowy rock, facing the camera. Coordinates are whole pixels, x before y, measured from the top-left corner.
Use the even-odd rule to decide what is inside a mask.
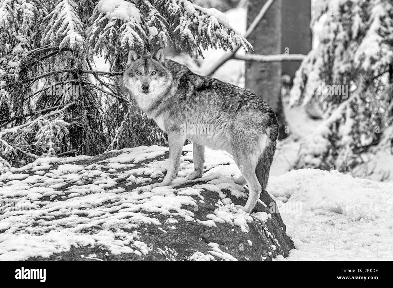
[[[155,187],[172,183],[189,139],[195,168],[187,178],[202,177],[205,146],[226,150],[242,173],[235,182],[248,185],[248,200],[241,208],[251,212],[266,188],[275,152],[278,123],[272,108],[248,90],[165,59],[162,48],[145,56],[130,51],[123,83],[140,109],[168,134],[169,166]],[[185,125],[202,127],[202,133],[184,129]]]

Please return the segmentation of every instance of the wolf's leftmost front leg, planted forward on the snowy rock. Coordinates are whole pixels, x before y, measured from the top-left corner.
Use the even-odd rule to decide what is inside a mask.
[[[168,132],[169,141],[169,157],[168,169],[165,178],[161,183],[155,183],[153,187],[162,187],[171,185],[173,179],[177,174],[180,165],[180,156],[182,155],[182,148],[185,141],[185,135],[179,132]]]

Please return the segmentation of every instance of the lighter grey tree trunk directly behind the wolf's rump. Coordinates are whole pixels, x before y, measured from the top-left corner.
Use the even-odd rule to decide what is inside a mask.
[[[247,28],[259,13],[266,0],[250,0],[247,7]],[[281,54],[281,9],[282,1],[275,0],[264,18],[248,37],[253,45],[251,53],[271,55]],[[265,100],[274,110],[280,125],[279,139],[288,136],[285,133],[286,120],[281,101],[281,62],[246,61],[246,89]]]

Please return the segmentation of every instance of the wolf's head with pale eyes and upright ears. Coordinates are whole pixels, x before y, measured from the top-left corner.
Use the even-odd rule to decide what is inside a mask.
[[[131,50],[123,74],[123,84],[142,109],[149,102],[165,96],[172,84],[172,75],[165,67],[163,49],[159,48],[154,54],[146,56],[140,56]]]

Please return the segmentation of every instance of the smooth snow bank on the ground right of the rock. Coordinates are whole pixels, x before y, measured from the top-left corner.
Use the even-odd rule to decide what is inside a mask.
[[[393,184],[301,169],[271,177],[266,190],[294,239],[287,260],[393,259]],[[283,212],[288,205],[300,211]]]

